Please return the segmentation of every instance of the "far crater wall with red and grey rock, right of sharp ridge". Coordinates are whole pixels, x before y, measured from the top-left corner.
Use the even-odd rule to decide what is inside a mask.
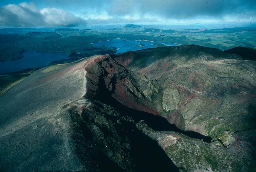
[[[87,87],[94,89],[87,94],[109,91],[125,106],[225,142],[221,134],[255,127],[248,119],[254,116],[256,63],[240,58],[194,45],[106,55],[87,66]],[[97,87],[91,76],[98,76]]]

